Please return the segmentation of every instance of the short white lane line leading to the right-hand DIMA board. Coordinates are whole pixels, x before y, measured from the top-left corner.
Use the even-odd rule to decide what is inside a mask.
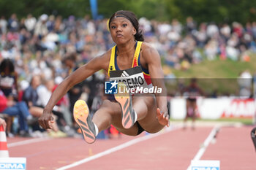
[[[206,138],[206,140],[203,142],[203,146],[200,147],[200,149],[197,151],[197,154],[195,155],[195,157],[193,158],[194,161],[198,161],[200,160],[200,158],[203,156],[203,153],[206,151],[206,148],[208,147],[208,145],[210,144],[210,142],[212,141],[212,139],[214,139],[215,134],[217,134],[217,131],[219,131],[219,127],[215,126],[212,130],[211,133],[208,135],[208,137]],[[189,165],[189,167],[187,168],[187,170],[191,170],[191,166]]]

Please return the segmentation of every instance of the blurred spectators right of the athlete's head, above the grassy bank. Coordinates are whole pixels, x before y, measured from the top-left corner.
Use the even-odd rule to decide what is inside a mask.
[[[165,63],[176,69],[188,69],[191,63],[203,59],[249,61],[249,53],[256,53],[256,22],[248,22],[246,26],[237,22],[231,26],[214,22],[197,25],[189,17],[182,25],[176,19],[159,23],[140,18],[140,26]]]

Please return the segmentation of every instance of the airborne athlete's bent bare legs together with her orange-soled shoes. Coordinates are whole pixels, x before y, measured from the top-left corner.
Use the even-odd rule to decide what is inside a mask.
[[[121,101],[121,103],[120,103]],[[123,102],[125,101],[125,102]],[[124,104],[124,106],[123,106]],[[129,105],[127,107],[127,104]],[[124,108],[129,108],[124,109]],[[132,124],[127,125],[122,120],[123,113],[127,120],[132,120],[130,113],[134,118]],[[158,113],[157,113],[158,112]],[[129,114],[128,114],[129,113]],[[127,118],[128,114],[128,118]],[[83,138],[88,143],[93,143],[99,131],[108,129],[112,124],[119,132],[129,136],[136,136],[140,125],[148,133],[156,133],[165,125],[161,125],[157,117],[160,111],[157,110],[157,104],[154,96],[134,96],[127,100],[127,97],[118,98],[118,102],[105,100],[102,106],[94,113],[93,118],[89,116],[89,108],[85,101],[78,100],[74,106],[73,116],[76,123],[80,126]],[[135,123],[136,116],[138,123]],[[158,118],[159,119],[159,118]],[[126,127],[124,127],[127,125]]]

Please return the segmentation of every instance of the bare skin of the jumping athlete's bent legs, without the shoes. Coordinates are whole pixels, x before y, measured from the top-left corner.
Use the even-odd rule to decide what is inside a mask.
[[[132,97],[133,109],[138,115],[138,123],[149,133],[156,133],[164,126],[157,120],[157,105],[154,96]],[[121,107],[116,102],[104,101],[102,106],[95,112],[92,121],[97,125],[99,131],[105,130],[112,124],[123,134],[136,136],[138,125],[124,128],[121,123]]]

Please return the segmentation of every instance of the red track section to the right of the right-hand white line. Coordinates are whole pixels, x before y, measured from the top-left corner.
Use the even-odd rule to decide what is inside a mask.
[[[252,126],[222,127],[216,144],[207,148],[201,159],[220,160],[225,170],[255,170],[256,153],[250,138]]]

